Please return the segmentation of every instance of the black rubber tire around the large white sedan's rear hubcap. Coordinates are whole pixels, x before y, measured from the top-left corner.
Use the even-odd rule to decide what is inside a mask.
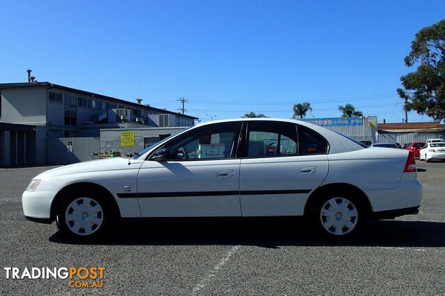
[[[355,238],[357,234],[359,234],[362,227],[364,227],[364,224],[366,223],[366,207],[364,205],[364,200],[362,196],[355,195],[354,193],[344,193],[342,191],[334,191],[334,192],[324,192],[325,195],[320,195],[317,198],[316,202],[314,202],[314,207],[311,211],[311,220],[312,225],[316,228],[316,231],[321,234],[324,238],[329,239],[330,241],[349,241],[351,238]],[[336,232],[337,226],[332,225],[332,227],[328,230],[325,226],[323,226],[323,223],[326,223],[329,225],[330,223],[328,220],[331,218],[327,216],[323,216],[321,214],[321,211],[323,208],[326,209],[326,207],[332,208],[330,204],[328,203],[330,200],[335,200],[337,204],[339,202],[342,202],[343,200],[347,200],[350,205],[347,207],[347,213],[350,213],[351,210],[355,209],[357,212],[357,216],[355,218],[347,217],[348,214],[343,214],[344,216],[340,215],[339,217],[335,217],[334,223],[337,225],[337,223],[346,223],[346,220],[349,220],[350,223],[353,223],[355,226],[353,229],[346,229],[347,227],[342,227],[341,234],[334,234],[333,232]],[[335,211],[335,209],[333,209]],[[338,214],[338,212],[337,212]],[[336,214],[336,215],[337,215]],[[339,219],[339,220],[337,220]],[[343,220],[342,220],[343,219]]]

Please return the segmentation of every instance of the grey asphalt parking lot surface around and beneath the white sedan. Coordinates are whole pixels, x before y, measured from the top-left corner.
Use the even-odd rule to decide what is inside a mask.
[[[67,279],[6,279],[5,267],[103,266],[107,295],[445,293],[445,162],[417,161],[416,216],[369,223],[347,245],[321,241],[300,219],[127,223],[95,245],[22,214],[22,191],[48,167],[0,169],[0,295],[91,293]]]

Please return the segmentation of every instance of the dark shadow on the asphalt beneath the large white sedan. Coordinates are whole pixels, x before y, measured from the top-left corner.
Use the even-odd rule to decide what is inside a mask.
[[[351,245],[357,247],[445,247],[445,223],[426,221],[369,221],[359,236],[346,243],[318,236],[302,218],[187,218],[122,223],[97,245]],[[49,241],[79,244],[60,232]]]

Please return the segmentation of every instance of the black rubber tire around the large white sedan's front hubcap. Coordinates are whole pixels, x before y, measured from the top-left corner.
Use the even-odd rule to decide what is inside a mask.
[[[86,223],[88,219],[90,218],[99,218],[102,220],[102,223],[100,223],[99,226],[92,225],[90,227],[92,229],[92,233],[87,234],[86,228],[83,229],[83,234],[81,233],[81,229],[79,229],[78,233],[73,232],[72,227],[74,226],[73,221],[68,221],[65,218],[65,214],[67,214],[67,211],[69,211],[68,207],[70,207],[70,204],[74,202],[75,200],[78,200],[81,202],[81,199],[88,198],[90,199],[90,206],[95,207],[97,204],[99,204],[99,207],[102,208],[102,211],[100,213],[95,214],[95,216],[87,217],[86,219],[83,219],[83,222]],[[80,203],[82,206],[83,204]],[[82,211],[79,211],[82,212]],[[108,232],[108,230],[111,228],[111,225],[115,221],[115,215],[113,214],[115,211],[113,211],[113,207],[111,206],[110,202],[107,202],[106,196],[102,195],[100,192],[97,191],[74,191],[72,193],[69,193],[63,197],[63,199],[58,204],[58,208],[56,210],[56,225],[59,229],[59,231],[67,236],[68,238],[72,238],[76,241],[80,242],[89,242],[89,241],[95,241],[98,238],[101,238]],[[76,214],[75,211],[72,212],[72,214]],[[81,213],[82,215],[83,213]],[[82,228],[82,227],[81,227]]]

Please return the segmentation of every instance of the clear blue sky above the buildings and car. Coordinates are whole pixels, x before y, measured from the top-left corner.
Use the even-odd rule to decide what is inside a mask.
[[[3,1],[0,82],[49,81],[202,121],[246,112],[401,122],[396,89],[445,1]],[[408,121],[430,121],[416,112]]]

